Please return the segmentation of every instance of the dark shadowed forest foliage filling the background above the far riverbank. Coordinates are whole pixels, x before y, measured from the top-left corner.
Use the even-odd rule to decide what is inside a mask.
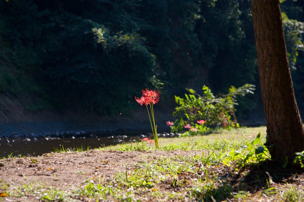
[[[303,113],[304,0],[281,7]],[[31,97],[32,110],[121,113],[144,88],[172,105],[185,87],[245,83],[257,90],[238,115],[263,110],[249,0],[0,0],[0,51],[0,92]]]

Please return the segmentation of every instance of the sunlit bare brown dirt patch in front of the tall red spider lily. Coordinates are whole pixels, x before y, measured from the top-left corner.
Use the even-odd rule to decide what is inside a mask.
[[[194,155],[198,151],[120,152],[90,150],[87,152],[48,153],[40,157],[0,160],[0,179],[4,184],[43,183],[45,187],[66,190],[81,187],[85,180],[109,180],[116,172],[136,169],[136,163],[159,157]],[[1,192],[1,190],[0,190]],[[5,197],[11,201],[37,201],[33,196]],[[1,198],[0,198],[1,200]]]

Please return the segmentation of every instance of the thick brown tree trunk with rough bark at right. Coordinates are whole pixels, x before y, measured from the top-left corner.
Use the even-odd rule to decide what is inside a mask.
[[[254,37],[264,110],[265,146],[271,159],[291,162],[304,150],[304,129],[295,101],[279,0],[251,0]]]

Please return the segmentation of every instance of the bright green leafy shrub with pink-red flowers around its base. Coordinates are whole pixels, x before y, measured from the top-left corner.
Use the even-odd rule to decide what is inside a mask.
[[[236,97],[253,94],[254,87],[252,84],[239,88],[231,86],[229,92],[222,96],[214,96],[206,85],[202,88],[203,96],[193,89],[187,89],[191,94],[185,94],[185,98],[175,96],[175,102],[179,106],[175,108],[173,115],[181,116],[171,124],[171,130],[182,132],[188,128],[191,132],[206,132],[210,127],[239,127],[235,115],[235,105],[238,105]],[[202,124],[198,124],[199,121]]]

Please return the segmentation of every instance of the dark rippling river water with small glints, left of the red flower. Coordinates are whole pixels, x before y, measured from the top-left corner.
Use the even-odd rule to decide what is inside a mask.
[[[139,133],[126,134],[102,134],[86,135],[81,137],[18,137],[18,138],[1,138],[0,139],[0,158],[11,156],[41,156],[45,153],[54,152],[58,149],[67,148],[99,148],[103,146],[116,145],[119,143],[134,142],[136,139],[142,139],[146,135]],[[149,136],[149,135],[147,135]]]

